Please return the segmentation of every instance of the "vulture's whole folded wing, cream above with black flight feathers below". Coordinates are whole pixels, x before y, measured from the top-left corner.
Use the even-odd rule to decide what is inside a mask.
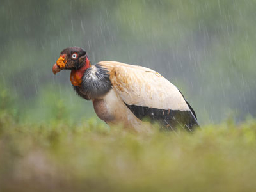
[[[149,68],[114,61],[98,63],[109,71],[116,93],[134,115],[158,120],[167,129],[198,125],[193,111],[176,86]]]

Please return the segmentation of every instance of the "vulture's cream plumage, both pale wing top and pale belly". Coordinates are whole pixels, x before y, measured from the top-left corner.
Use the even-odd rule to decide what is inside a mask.
[[[104,97],[92,101],[99,118],[109,125],[124,124],[138,132],[150,127],[148,122],[138,119],[125,104],[189,111],[176,86],[154,70],[116,61],[101,61],[97,64],[108,70],[113,89]]]

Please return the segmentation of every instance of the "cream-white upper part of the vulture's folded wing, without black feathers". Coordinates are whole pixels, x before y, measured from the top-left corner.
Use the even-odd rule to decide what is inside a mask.
[[[176,86],[154,70],[115,61],[98,64],[108,69],[112,86],[125,104],[189,111]]]

